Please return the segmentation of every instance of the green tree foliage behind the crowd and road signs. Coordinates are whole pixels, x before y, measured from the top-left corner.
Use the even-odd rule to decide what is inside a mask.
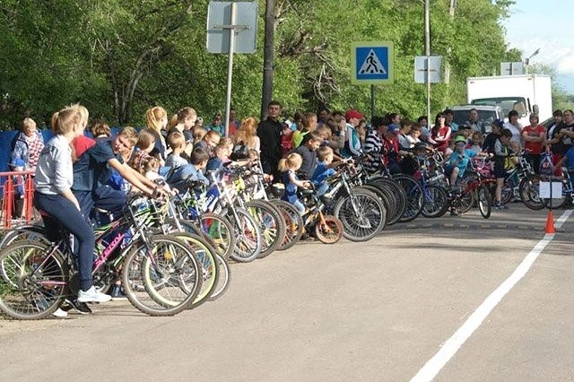
[[[208,54],[209,0],[4,0],[0,5],[0,122],[28,113],[48,121],[80,101],[110,124],[143,123],[145,109],[202,115],[223,111],[227,55]],[[235,55],[231,103],[240,116],[261,109],[263,13],[257,53]],[[501,22],[511,0],[431,1],[431,54],[450,68],[432,85],[433,111],[464,102],[465,78],[494,74],[507,51]],[[425,85],[413,82],[414,56],[424,54],[422,0],[276,0],[274,99],[284,109],[370,109],[370,87],[350,83],[354,41],[395,44],[395,82],[376,87],[378,114],[417,117]]]

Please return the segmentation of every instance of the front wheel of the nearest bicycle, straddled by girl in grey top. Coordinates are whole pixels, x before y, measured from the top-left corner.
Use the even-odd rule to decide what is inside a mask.
[[[127,299],[150,316],[173,316],[196,300],[202,271],[196,255],[179,239],[164,235],[138,240],[122,270]]]

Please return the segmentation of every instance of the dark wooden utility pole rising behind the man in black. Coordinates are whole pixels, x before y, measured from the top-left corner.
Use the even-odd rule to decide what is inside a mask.
[[[261,91],[261,120],[267,115],[267,104],[273,97],[273,61],[275,33],[275,0],[265,3],[265,40],[263,48],[263,89]]]

